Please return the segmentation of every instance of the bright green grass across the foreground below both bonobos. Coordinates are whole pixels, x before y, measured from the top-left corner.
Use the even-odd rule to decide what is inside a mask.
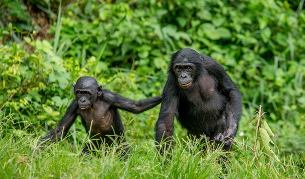
[[[114,146],[98,151],[100,157],[81,157],[85,140],[72,143],[73,135],[61,142],[37,150],[41,131],[12,129],[12,117],[0,116],[0,178],[1,179],[301,179],[305,177],[300,163],[292,157],[281,162],[263,156],[255,160],[246,141],[236,141],[231,152],[202,145],[185,136],[175,135],[172,160],[156,154],[153,136],[141,138],[141,132],[129,131],[131,155],[120,160]],[[133,125],[133,122],[130,123]],[[128,128],[128,127],[127,127]],[[180,133],[180,129],[177,129]],[[150,131],[150,133],[153,131]],[[81,133],[83,133],[81,131]],[[79,132],[76,133],[79,135]],[[83,134],[82,134],[83,135]],[[217,162],[221,155],[227,161]],[[228,174],[223,171],[226,165]]]

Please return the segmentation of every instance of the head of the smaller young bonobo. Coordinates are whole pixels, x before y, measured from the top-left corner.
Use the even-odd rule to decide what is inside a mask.
[[[80,77],[74,86],[75,98],[80,109],[91,107],[101,94],[102,87],[92,77]]]

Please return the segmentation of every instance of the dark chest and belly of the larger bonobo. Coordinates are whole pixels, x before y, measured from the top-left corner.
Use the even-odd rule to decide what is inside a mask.
[[[204,89],[209,89],[209,92],[202,91]],[[215,135],[216,124],[223,119],[225,106],[225,98],[218,91],[196,88],[187,96],[180,97],[177,119],[190,134],[212,137]]]

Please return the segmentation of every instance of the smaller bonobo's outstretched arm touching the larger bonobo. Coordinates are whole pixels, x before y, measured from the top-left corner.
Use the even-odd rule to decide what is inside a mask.
[[[102,91],[103,100],[109,102],[111,106],[129,111],[131,113],[141,113],[143,111],[149,110],[154,106],[161,103],[162,95],[155,96],[148,99],[141,99],[139,101],[134,101],[125,98],[117,93],[111,92],[109,90],[103,89]]]

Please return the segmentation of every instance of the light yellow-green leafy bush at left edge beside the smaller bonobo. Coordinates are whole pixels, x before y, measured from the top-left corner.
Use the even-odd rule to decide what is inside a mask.
[[[62,66],[62,59],[52,56],[48,41],[25,40],[37,50],[26,53],[24,46],[16,43],[0,45],[0,114],[14,113],[17,120],[27,119],[37,127],[41,125],[37,118],[43,121],[57,117],[59,113],[52,107],[67,103],[60,94],[67,87],[70,74]]]

